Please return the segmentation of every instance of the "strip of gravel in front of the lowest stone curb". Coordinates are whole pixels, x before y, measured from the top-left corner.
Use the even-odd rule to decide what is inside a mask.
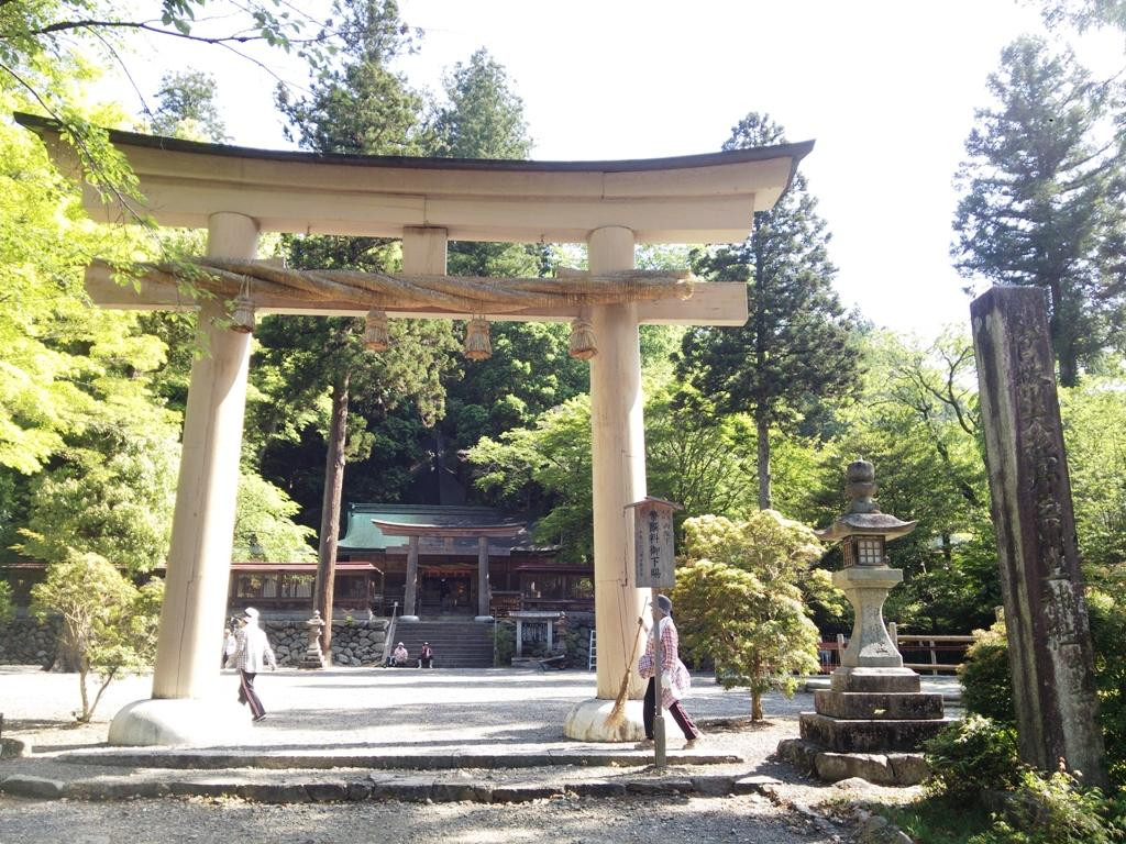
[[[771,842],[847,841],[829,821],[761,797],[654,800],[544,800],[481,803],[261,806],[235,801],[136,800],[122,803],[14,801],[0,798],[3,844],[178,842]]]

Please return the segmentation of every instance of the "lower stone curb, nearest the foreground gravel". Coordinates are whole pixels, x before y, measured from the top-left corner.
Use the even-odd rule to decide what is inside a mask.
[[[664,776],[659,779],[587,780],[566,783],[515,783],[498,785],[485,781],[439,782],[426,776],[366,780],[319,780],[315,782],[243,782],[236,779],[205,779],[173,782],[136,782],[133,779],[95,779],[63,782],[43,776],[12,774],[0,780],[0,793],[8,797],[57,800],[129,800],[159,797],[238,797],[265,803],[355,802],[403,800],[409,802],[509,803],[568,797],[623,798],[642,796],[696,794],[727,797],[759,793],[771,797],[780,784],[769,776]]]

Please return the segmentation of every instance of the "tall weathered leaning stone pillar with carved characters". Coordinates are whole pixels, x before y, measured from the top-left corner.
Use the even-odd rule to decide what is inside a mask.
[[[1044,290],[969,306],[1020,757],[1107,785]]]

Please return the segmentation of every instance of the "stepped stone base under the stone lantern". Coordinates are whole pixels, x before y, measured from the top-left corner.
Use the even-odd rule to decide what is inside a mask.
[[[799,739],[778,754],[823,780],[861,776],[882,785],[914,785],[930,773],[919,745],[949,725],[942,695],[920,691],[910,668],[840,667],[832,685],[802,712]]]

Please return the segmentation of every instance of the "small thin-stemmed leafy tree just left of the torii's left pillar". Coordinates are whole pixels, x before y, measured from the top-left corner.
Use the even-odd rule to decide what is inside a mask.
[[[78,665],[80,722],[90,721],[114,679],[152,663],[162,595],[163,581],[137,589],[105,557],[74,550],[32,589],[33,612],[62,620],[60,644]]]

